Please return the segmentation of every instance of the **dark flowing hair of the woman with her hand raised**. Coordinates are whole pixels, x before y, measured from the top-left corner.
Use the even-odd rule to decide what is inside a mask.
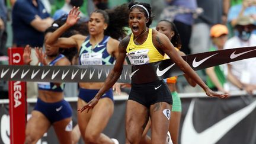
[[[127,4],[120,5],[114,9],[96,9],[94,12],[100,13],[104,17],[104,22],[108,24],[104,34],[119,40],[126,35],[126,30],[123,27],[128,26],[129,9]]]

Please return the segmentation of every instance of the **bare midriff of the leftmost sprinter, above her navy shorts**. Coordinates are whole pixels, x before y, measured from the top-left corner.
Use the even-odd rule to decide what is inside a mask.
[[[56,103],[63,99],[63,92],[54,92],[39,89],[38,97],[45,103]]]

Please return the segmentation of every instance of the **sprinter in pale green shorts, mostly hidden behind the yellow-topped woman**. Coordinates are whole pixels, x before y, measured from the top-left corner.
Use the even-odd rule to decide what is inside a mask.
[[[171,43],[174,45],[176,50],[178,50],[178,53],[180,56],[184,56],[185,53],[180,51],[181,48],[181,40],[180,40],[180,34],[178,33],[178,30],[174,23],[168,20],[161,20],[156,25],[156,30],[160,33],[165,34]],[[165,59],[169,59],[167,55],[165,55]],[[188,84],[190,84],[192,87],[196,87],[196,82],[194,82],[191,78],[189,78],[187,75],[184,75],[185,78],[188,81]],[[169,132],[171,133],[171,140],[174,144],[178,143],[178,134],[180,130],[180,120],[181,120],[181,100],[178,96],[177,89],[175,87],[175,83],[177,82],[177,76],[173,76],[171,78],[167,78],[167,85],[171,91],[172,95],[172,110],[171,110],[171,118],[169,121]],[[142,135],[142,143],[151,143],[150,137],[146,136],[146,133],[148,133],[148,130],[151,125],[151,120],[149,120],[149,123],[147,124],[145,131]]]

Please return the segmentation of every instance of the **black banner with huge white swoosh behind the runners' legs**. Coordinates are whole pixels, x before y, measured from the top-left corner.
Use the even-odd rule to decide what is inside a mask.
[[[191,95],[196,96],[196,95]],[[36,100],[35,100],[36,101]],[[181,98],[182,117],[181,144],[255,144],[256,143],[256,97],[241,95],[226,100],[219,98]],[[73,126],[76,124],[76,101],[69,102],[73,108]],[[28,117],[35,103],[28,103]],[[115,101],[114,114],[104,130],[105,135],[125,143],[124,119],[126,100]],[[0,108],[0,143],[9,143],[8,104]],[[37,144],[58,143],[54,130]],[[82,140],[79,143],[83,143]]]

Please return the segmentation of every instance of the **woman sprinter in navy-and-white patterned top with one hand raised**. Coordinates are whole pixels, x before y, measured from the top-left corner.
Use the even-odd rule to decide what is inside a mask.
[[[72,8],[66,23],[58,28],[46,40],[53,47],[76,47],[79,52],[80,65],[110,65],[119,55],[119,39],[123,37],[123,27],[127,25],[129,9],[127,5],[121,5],[113,10],[106,11],[97,9],[90,15],[88,28],[89,36],[76,34],[63,38],[62,33],[76,24],[79,17],[79,8]],[[111,36],[111,37],[110,37]],[[113,39],[112,37],[116,38]],[[78,107],[88,104],[94,98],[103,82],[81,82],[79,83]],[[78,113],[78,125],[85,143],[114,143],[115,139],[104,135],[103,130],[114,111],[113,91],[108,88],[98,101],[98,105],[88,113]]]

